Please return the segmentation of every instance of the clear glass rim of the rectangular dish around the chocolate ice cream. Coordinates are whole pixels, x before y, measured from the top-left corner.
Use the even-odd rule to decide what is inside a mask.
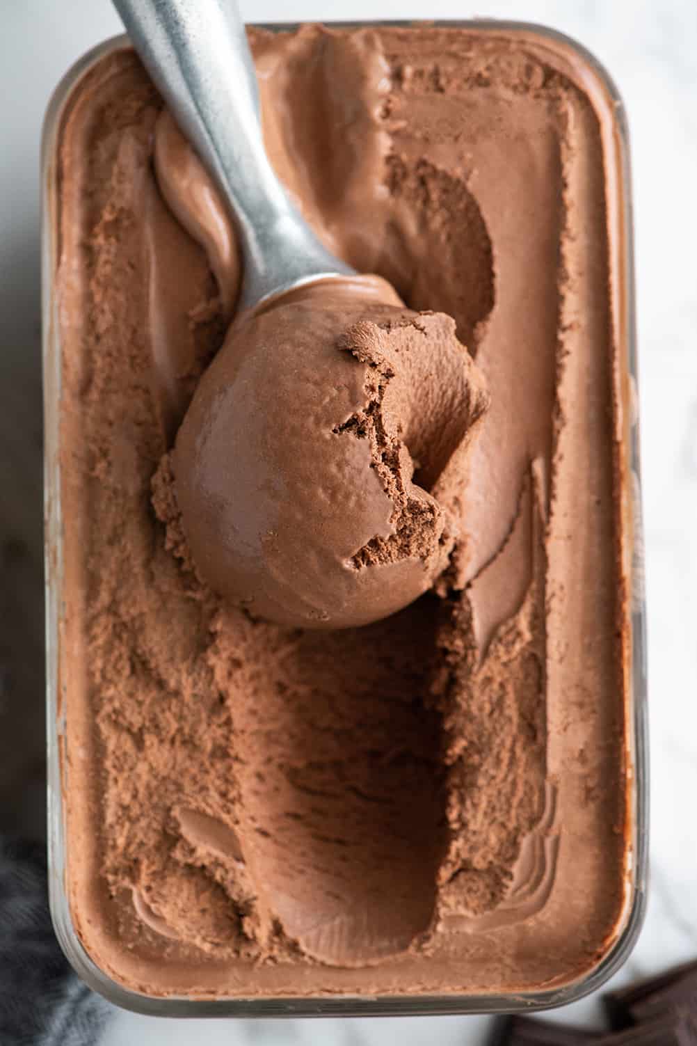
[[[376,23],[381,25],[382,23]],[[388,23],[389,24],[389,23]],[[394,26],[400,23],[391,23]],[[432,23],[428,23],[429,25]],[[48,722],[48,814],[50,906],[59,940],[79,976],[95,991],[114,1003],[136,1011],[180,1017],[307,1017],[307,1016],[408,1016],[437,1014],[496,1014],[526,1011],[560,1006],[596,991],[624,962],[641,929],[646,902],[647,877],[647,741],[646,741],[646,644],[643,592],[643,547],[641,541],[641,491],[638,432],[636,416],[636,359],[632,274],[631,202],[628,141],[621,99],[605,70],[580,45],[551,29],[524,23],[473,20],[435,23],[494,40],[504,35],[513,49],[525,49],[531,42],[551,63],[567,75],[590,99],[599,117],[605,169],[605,208],[608,229],[608,271],[611,288],[609,317],[611,344],[615,359],[608,367],[612,384],[614,447],[621,497],[618,511],[619,566],[624,598],[621,600],[623,686],[615,698],[621,703],[624,724],[622,766],[626,817],[624,824],[623,900],[612,932],[602,942],[593,964],[574,976],[560,974],[537,986],[517,983],[492,985],[491,991],[478,986],[468,991],[439,994],[375,994],[347,991],[319,991],[295,997],[287,992],[257,996],[227,993],[218,979],[211,993],[187,995],[181,985],[166,996],[148,995],[121,983],[118,977],[101,969],[90,954],[90,941],[78,933],[70,889],[71,862],[76,860],[78,840],[67,796],[77,795],[98,779],[95,768],[90,777],[80,754],[73,725],[78,702],[72,692],[71,675],[66,665],[74,642],[66,612],[66,586],[75,576],[74,545],[67,550],[66,531],[74,525],[64,513],[65,476],[63,453],[65,430],[62,428],[62,391],[66,359],[65,327],[55,286],[59,267],[64,262],[61,222],[60,151],[66,113],[85,83],[100,63],[129,48],[126,38],[104,43],[85,55],[66,75],[50,103],[43,144],[43,321],[44,321],[44,397],[45,397],[45,499],[46,499],[46,599],[47,599],[47,722]],[[344,25],[358,28],[357,25]],[[404,25],[404,27],[406,27]],[[274,29],[293,28],[274,26]],[[418,32],[418,24],[411,24]],[[610,291],[608,290],[608,294]],[[593,578],[589,581],[593,584]],[[96,753],[90,756],[98,759]],[[563,838],[563,824],[561,827]],[[95,865],[91,889],[106,889],[99,883]],[[88,920],[89,925],[89,920]],[[495,925],[482,937],[481,948],[496,949]],[[544,948],[544,942],[540,942]],[[432,961],[421,957],[425,970]],[[456,978],[457,979],[457,978]],[[504,978],[505,980],[505,978]]]

